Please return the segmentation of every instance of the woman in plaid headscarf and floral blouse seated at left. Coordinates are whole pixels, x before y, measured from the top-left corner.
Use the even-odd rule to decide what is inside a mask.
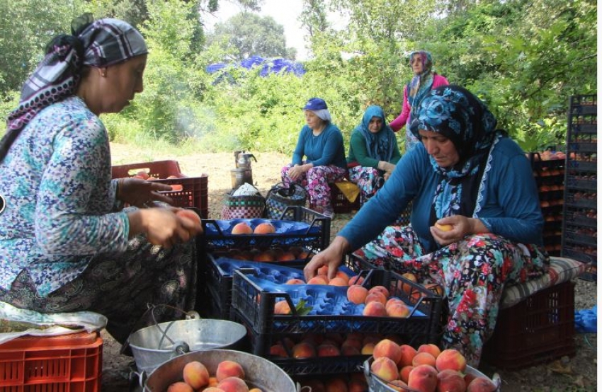
[[[195,299],[200,224],[172,207],[146,208],[170,202],[161,195],[169,185],[111,180],[98,117],[142,92],[147,52],[123,21],[76,19],[25,81],[0,142],[0,301],[96,311],[120,342],[147,303],[189,310]]]

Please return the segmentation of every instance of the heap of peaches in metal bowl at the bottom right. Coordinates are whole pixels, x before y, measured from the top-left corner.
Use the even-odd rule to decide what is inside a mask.
[[[496,385],[487,377],[467,372],[466,358],[454,349],[441,351],[425,344],[414,349],[392,340],[374,347],[370,372],[394,391],[494,392]]]

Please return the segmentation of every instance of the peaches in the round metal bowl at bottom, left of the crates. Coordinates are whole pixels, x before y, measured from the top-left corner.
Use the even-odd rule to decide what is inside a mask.
[[[213,375],[203,363],[188,362],[182,376],[184,381],[171,384],[167,392],[262,392],[260,388],[249,388],[244,381],[244,369],[235,361],[220,362]]]

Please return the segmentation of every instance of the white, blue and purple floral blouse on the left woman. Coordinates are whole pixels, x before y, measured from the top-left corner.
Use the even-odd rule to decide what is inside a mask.
[[[47,296],[90,260],[127,247],[129,221],[118,211],[108,134],[83,100],[40,111],[0,163],[0,287],[24,269]]]

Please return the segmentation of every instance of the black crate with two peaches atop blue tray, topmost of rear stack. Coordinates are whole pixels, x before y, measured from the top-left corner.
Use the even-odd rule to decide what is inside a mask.
[[[235,219],[232,219],[234,221]],[[246,221],[248,219],[239,219]],[[269,221],[268,219],[264,219]],[[278,221],[295,221],[307,224],[307,229],[276,234],[227,234],[220,228],[220,221],[203,219],[203,243],[205,252],[215,253],[230,249],[268,249],[300,246],[319,252],[330,243],[330,218],[305,207],[287,207]]]

